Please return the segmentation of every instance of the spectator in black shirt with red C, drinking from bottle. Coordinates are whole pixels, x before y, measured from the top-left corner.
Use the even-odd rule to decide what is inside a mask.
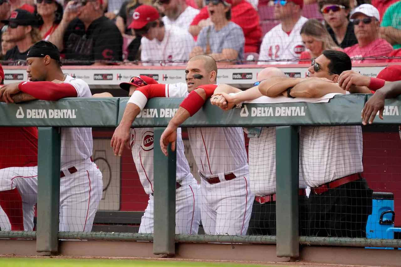
[[[122,61],[123,38],[103,15],[103,0],[70,1],[49,37],[71,65],[108,65]],[[68,63],[71,61],[71,63]]]

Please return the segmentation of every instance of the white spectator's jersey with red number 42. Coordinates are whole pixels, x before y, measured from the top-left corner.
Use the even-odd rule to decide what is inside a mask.
[[[300,59],[301,53],[305,51],[300,31],[307,20],[307,18],[301,16],[289,34],[284,32],[281,23],[269,30],[263,37],[257,64],[298,64],[297,60]]]

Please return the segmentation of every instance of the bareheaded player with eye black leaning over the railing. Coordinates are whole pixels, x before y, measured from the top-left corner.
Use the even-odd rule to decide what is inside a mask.
[[[180,90],[181,94],[176,97],[186,98],[160,138],[160,146],[166,155],[170,142],[173,150],[176,147],[179,125],[201,109],[217,87],[216,61],[208,55],[192,57],[185,73],[188,91]],[[245,235],[254,196],[249,188],[249,167],[242,128],[193,127],[188,128],[188,136],[202,177],[201,217],[205,233]]]

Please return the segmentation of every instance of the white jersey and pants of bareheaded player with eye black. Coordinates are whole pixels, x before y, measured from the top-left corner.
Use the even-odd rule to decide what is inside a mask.
[[[162,91],[156,93],[158,97],[183,98],[189,94],[186,83],[162,86],[154,86]],[[152,91],[154,93],[157,90]],[[143,97],[146,98],[145,95]],[[249,188],[249,167],[242,128],[188,128],[188,136],[198,172],[203,177],[201,218],[205,233],[245,235],[254,196]],[[236,178],[225,179],[226,175],[233,177],[232,174]],[[218,182],[209,184],[208,178],[215,178]]]

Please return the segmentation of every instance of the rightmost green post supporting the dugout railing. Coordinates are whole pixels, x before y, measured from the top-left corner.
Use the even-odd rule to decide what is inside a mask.
[[[277,257],[299,257],[299,134],[296,126],[276,127]]]

